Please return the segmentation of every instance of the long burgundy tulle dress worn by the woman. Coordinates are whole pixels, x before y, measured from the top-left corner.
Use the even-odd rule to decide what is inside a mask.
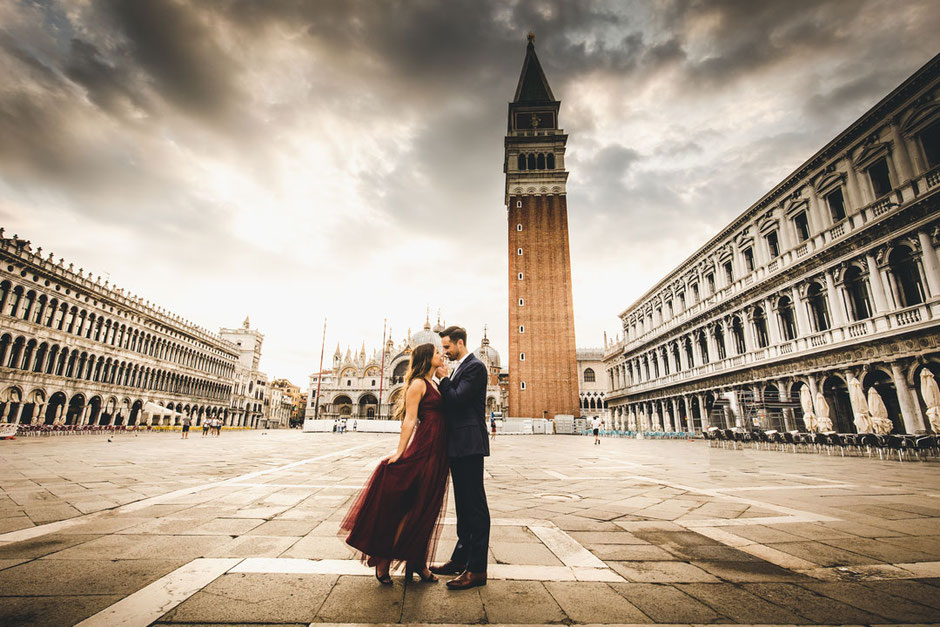
[[[421,567],[433,557],[447,495],[445,429],[441,393],[427,384],[411,442],[394,464],[379,463],[340,525],[369,566],[388,559]]]

